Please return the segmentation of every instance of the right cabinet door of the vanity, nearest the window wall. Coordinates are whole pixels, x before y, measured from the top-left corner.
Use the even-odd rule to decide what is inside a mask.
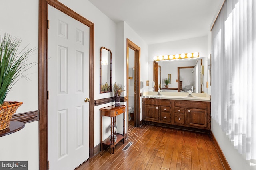
[[[195,127],[207,127],[207,111],[201,109],[185,109],[186,124]]]

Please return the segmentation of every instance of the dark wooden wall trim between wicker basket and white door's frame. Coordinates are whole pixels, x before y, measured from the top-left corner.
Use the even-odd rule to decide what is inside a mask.
[[[11,121],[20,121],[23,123],[30,123],[38,120],[39,120],[39,110],[14,114],[11,119]]]

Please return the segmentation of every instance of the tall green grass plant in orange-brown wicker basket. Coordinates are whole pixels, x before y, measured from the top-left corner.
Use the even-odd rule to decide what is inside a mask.
[[[12,86],[32,63],[26,63],[34,49],[18,51],[22,40],[4,34],[0,36],[0,131],[9,127],[12,115],[23,102],[4,102]]]

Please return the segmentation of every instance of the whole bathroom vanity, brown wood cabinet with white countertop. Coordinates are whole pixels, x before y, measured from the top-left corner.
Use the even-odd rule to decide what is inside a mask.
[[[207,94],[151,92],[142,97],[145,124],[208,132],[211,128],[211,103]],[[195,95],[195,96],[194,96]]]

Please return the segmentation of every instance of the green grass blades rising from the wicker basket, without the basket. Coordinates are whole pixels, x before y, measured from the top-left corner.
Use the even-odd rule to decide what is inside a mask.
[[[10,34],[0,36],[0,106],[12,88],[12,86],[22,77],[27,78],[23,73],[34,64],[27,63],[28,55],[34,49],[26,47],[18,51],[22,40],[12,37]]]

